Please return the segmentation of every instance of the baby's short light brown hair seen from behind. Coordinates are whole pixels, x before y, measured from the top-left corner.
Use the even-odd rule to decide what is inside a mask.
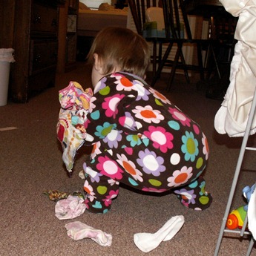
[[[97,53],[104,63],[104,74],[115,68],[123,72],[144,77],[150,64],[148,43],[128,28],[106,27],[99,31],[88,53],[88,61],[93,64],[93,53]]]

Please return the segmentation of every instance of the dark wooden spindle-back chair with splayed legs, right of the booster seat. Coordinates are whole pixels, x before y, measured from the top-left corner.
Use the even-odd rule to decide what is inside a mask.
[[[188,22],[188,16],[186,13],[185,0],[165,0],[163,1],[163,15],[165,19],[165,39],[162,39],[162,43],[168,43],[168,47],[165,50],[165,54],[160,61],[160,65],[157,68],[157,72],[153,78],[152,86],[154,86],[159,79],[163,67],[165,65],[171,66],[171,73],[168,79],[168,85],[166,90],[169,91],[174,80],[174,75],[177,68],[184,70],[186,80],[189,83],[188,70],[198,70],[200,72],[200,79],[204,79],[205,68],[203,65],[202,48],[207,47],[208,52],[211,53],[214,65],[218,70],[217,59],[214,53],[214,39],[194,39],[191,34],[191,29]],[[184,31],[182,30],[184,28]],[[183,56],[184,45],[194,45],[197,50],[197,64],[187,65]],[[177,45],[177,50],[174,56],[174,60],[168,60],[168,56],[174,45]]]

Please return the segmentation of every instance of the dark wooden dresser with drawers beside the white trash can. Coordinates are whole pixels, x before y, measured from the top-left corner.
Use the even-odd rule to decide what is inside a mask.
[[[13,16],[15,61],[10,96],[27,102],[30,96],[54,86],[58,60],[59,7],[65,0],[16,0]]]

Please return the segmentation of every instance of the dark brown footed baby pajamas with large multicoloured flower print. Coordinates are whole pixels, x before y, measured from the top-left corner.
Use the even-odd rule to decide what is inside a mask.
[[[112,73],[96,85],[87,117],[93,137],[84,164],[89,211],[111,209],[119,183],[173,191],[191,209],[209,207],[211,194],[200,177],[209,157],[206,136],[163,94],[130,73]]]

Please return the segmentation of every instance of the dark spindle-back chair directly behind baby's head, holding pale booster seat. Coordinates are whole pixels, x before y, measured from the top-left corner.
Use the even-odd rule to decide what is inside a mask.
[[[137,33],[142,36],[143,25],[146,22],[145,11],[149,7],[162,7],[161,0],[128,0],[128,4],[131,10],[131,15],[134,19],[134,24],[137,29]],[[152,62],[152,70],[153,76],[156,75],[157,70],[157,62],[160,62],[162,56],[162,39],[157,38],[145,38],[148,42],[152,42],[153,44],[153,53],[151,56]],[[159,46],[159,50],[157,53],[157,44]]]

